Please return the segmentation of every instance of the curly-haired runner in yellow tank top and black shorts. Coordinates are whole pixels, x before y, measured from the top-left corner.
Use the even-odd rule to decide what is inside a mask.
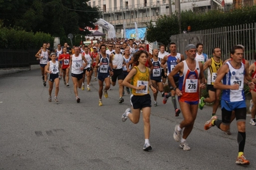
[[[139,50],[138,52],[136,52],[133,55],[133,59],[135,62],[138,62],[138,66],[133,67],[123,81],[124,86],[132,89],[132,95],[130,97],[132,109],[126,109],[126,111],[122,115],[122,121],[126,121],[127,118],[129,118],[132,123],[139,123],[142,109],[145,137],[145,144],[143,146],[144,151],[152,150],[152,147],[149,144],[149,116],[151,112],[151,97],[149,95],[149,88],[152,89],[153,93],[156,93],[157,91],[152,86],[150,81],[150,68],[145,66],[147,58],[148,53],[146,51]]]

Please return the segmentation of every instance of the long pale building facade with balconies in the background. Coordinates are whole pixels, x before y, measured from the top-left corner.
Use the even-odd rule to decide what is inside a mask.
[[[194,12],[207,12],[211,9],[230,6],[235,1],[255,0],[180,0],[181,10],[193,10]],[[90,0],[89,6],[98,6],[106,20],[115,27],[117,38],[123,38],[122,29],[134,28],[134,22],[138,27],[146,27],[152,20],[157,20],[159,15],[169,15],[168,0]],[[175,13],[175,0],[171,0],[171,11]],[[103,31],[107,34],[107,31]]]

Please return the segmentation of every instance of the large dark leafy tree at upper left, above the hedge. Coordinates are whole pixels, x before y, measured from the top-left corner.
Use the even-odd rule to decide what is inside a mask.
[[[42,31],[53,36],[67,36],[87,31],[79,27],[94,27],[99,8],[88,6],[89,0],[0,0],[0,19],[4,26],[18,26],[26,31]]]

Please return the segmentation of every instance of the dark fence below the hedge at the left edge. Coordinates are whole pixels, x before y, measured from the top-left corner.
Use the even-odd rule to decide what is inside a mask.
[[[13,68],[36,65],[35,54],[38,50],[0,49],[0,68]]]

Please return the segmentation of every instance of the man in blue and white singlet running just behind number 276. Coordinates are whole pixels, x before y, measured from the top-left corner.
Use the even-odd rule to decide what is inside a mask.
[[[171,54],[169,54],[169,56],[164,56],[164,59],[162,59],[162,65],[165,65],[167,62],[167,68],[168,68],[167,72],[171,73],[172,70],[175,68],[175,66],[184,60],[184,56],[176,51],[176,43],[174,42],[170,43],[169,49],[171,50]],[[166,68],[164,68],[164,70],[166,72]],[[175,80],[175,86],[171,85],[169,76],[170,75],[168,75],[168,81],[169,81],[168,84],[171,89],[171,92],[164,94],[163,104],[166,104],[168,98],[171,97],[171,101],[173,102],[173,107],[175,108],[175,116],[179,116],[180,109],[178,109],[176,104],[176,97],[175,97],[176,91],[174,87],[178,86],[180,75],[179,73],[176,73],[176,75],[174,75],[173,77],[173,79]]]

